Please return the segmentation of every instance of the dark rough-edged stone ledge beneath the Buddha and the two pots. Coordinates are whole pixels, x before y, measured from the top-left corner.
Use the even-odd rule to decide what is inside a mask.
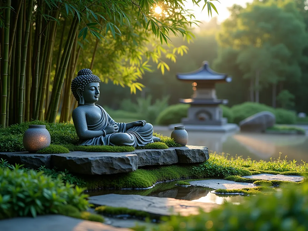
[[[65,154],[31,154],[0,152],[0,158],[25,168],[58,168],[72,173],[102,175],[133,172],[152,165],[192,164],[209,159],[208,148],[186,146],[168,149],[137,149],[133,152],[70,152]]]

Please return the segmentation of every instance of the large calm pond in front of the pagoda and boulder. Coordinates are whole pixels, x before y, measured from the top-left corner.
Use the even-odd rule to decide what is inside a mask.
[[[163,136],[170,136],[172,132],[161,127],[154,131]],[[308,162],[308,136],[188,131],[188,137],[188,145],[206,146],[209,151],[229,153],[230,156],[268,161],[270,157],[278,158],[282,152],[282,158],[288,156],[288,160]]]

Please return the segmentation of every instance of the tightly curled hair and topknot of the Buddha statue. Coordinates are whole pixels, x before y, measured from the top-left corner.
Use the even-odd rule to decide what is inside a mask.
[[[90,69],[85,68],[78,71],[77,77],[71,83],[71,91],[77,101],[79,100],[77,89],[81,88],[84,91],[84,87],[93,82],[99,83],[100,79],[97,75],[93,75]]]

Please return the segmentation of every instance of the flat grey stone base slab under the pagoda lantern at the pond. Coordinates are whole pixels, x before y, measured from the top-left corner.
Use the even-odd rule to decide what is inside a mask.
[[[171,124],[169,130],[173,130],[175,126],[184,126],[186,131],[198,132],[237,132],[240,128],[237,124],[224,124],[224,125],[198,125],[198,124]]]

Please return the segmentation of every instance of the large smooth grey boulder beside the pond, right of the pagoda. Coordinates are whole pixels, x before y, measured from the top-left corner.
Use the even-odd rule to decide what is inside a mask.
[[[261,111],[245,120],[239,125],[243,132],[265,132],[267,128],[273,127],[276,123],[275,115],[270,111]]]

